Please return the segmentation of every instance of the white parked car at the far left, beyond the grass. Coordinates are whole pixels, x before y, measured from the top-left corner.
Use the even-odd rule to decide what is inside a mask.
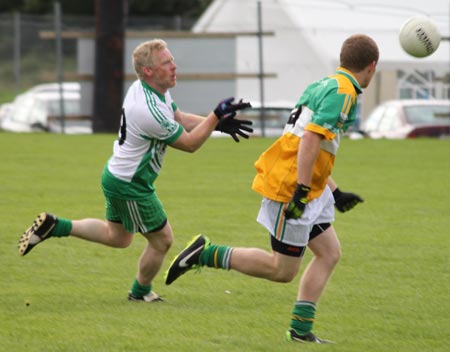
[[[92,133],[92,121],[81,114],[80,87],[63,84],[64,132]],[[16,97],[0,127],[12,132],[61,132],[61,99],[58,84],[43,84]]]

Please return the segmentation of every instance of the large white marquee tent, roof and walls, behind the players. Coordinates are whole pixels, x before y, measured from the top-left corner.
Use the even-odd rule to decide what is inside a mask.
[[[368,34],[377,41],[379,72],[433,71],[443,76],[449,71],[448,40],[441,41],[430,57],[417,59],[402,50],[398,33],[409,17],[421,14],[431,17],[441,35],[448,37],[450,1],[260,0],[260,4],[262,29],[274,32],[263,40],[264,71],[276,74],[276,78],[265,79],[265,101],[296,101],[309,82],[334,71],[343,40],[354,33]],[[214,0],[194,32],[255,32],[257,13],[258,0]],[[239,73],[258,72],[256,37],[238,38],[236,61]],[[391,87],[386,98],[395,98],[395,94]],[[239,79],[237,95],[259,100],[258,80]]]

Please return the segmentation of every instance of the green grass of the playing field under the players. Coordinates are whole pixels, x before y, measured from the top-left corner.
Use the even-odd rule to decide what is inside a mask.
[[[99,176],[114,138],[0,133],[2,350],[448,351],[450,140],[343,141],[334,177],[365,202],[336,215],[343,258],[318,308],[315,331],[338,344],[299,346],[283,339],[298,278],[203,269],[165,286],[161,273],[154,288],[166,302],[145,305],[125,299],[139,235],[122,250],[69,238],[18,255],[20,234],[43,210],[103,217]],[[168,150],[157,190],[175,242],[163,270],[199,232],[270,249],[251,182],[271,142]]]

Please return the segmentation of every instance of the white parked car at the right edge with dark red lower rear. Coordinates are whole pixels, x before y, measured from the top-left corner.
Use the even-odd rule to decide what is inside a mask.
[[[377,106],[363,122],[371,138],[450,136],[450,100],[391,100]]]

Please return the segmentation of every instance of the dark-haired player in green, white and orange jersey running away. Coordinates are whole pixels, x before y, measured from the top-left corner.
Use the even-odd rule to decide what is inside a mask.
[[[316,304],[341,256],[331,225],[334,205],[347,211],[362,201],[356,194],[340,191],[331,171],[341,134],[355,121],[357,96],[369,85],[378,58],[377,44],[370,37],[346,39],[340,67],[306,88],[283,135],[256,161],[253,190],[263,196],[257,220],[270,233],[272,253],[216,245],[199,235],[175,257],[166,272],[166,284],[199,266],[290,282],[308,247],[313,258],[300,280],[286,337],[299,342],[330,342],[315,336],[312,327]]]

